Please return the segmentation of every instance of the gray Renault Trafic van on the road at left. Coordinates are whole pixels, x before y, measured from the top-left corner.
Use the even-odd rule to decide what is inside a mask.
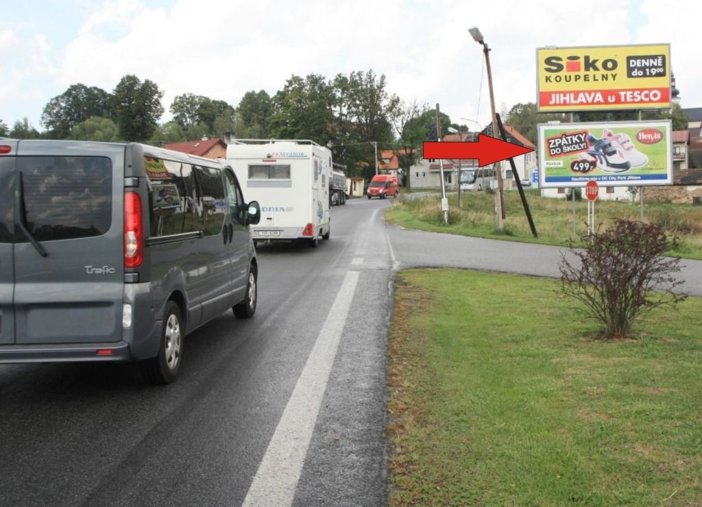
[[[168,384],[185,334],[256,311],[259,219],[223,161],[0,139],[0,363],[141,361]]]

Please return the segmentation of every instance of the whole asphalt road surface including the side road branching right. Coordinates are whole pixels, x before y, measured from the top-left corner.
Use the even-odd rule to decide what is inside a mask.
[[[386,227],[388,204],[333,208],[317,249],[261,246],[256,316],[187,337],[176,384],[135,365],[0,365],[0,506],[383,505],[392,272],[558,276],[564,252]],[[702,262],[685,264],[702,295]]]

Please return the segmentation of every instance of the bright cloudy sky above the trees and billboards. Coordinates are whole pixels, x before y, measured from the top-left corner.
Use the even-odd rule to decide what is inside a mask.
[[[489,123],[482,48],[498,111],[536,102],[536,48],[670,43],[682,107],[702,107],[699,0],[24,0],[0,17],[0,120],[41,111],[74,83],[112,91],[125,74],[165,95],[237,105],[293,74],[373,69],[405,103],[439,106],[470,128]],[[467,119],[467,120],[461,120]]]

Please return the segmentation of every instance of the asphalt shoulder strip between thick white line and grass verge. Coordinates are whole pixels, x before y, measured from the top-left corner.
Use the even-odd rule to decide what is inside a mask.
[[[371,209],[371,215],[359,221],[346,258],[337,266],[359,271],[359,283],[300,475],[297,506],[386,503],[393,259],[383,210],[390,204],[364,201],[358,205]]]

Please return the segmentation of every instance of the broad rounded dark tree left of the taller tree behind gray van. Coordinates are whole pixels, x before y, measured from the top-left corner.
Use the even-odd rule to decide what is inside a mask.
[[[74,126],[92,116],[114,120],[111,99],[102,88],[77,83],[48,101],[39,123],[48,130],[49,137],[66,139]]]

